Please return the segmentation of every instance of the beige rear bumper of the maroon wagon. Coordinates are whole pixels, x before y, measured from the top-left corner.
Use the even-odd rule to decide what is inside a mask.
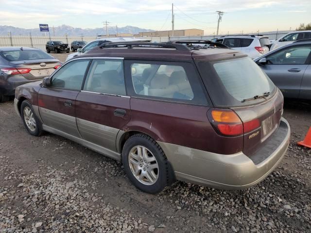
[[[269,142],[251,156],[242,152],[216,154],[158,142],[178,180],[220,189],[243,189],[266,178],[282,160],[290,140],[290,126],[282,118]]]

